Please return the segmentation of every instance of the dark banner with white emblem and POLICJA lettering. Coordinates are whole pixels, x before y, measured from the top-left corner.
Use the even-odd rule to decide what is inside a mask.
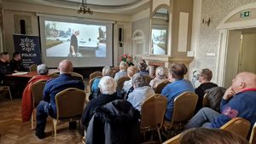
[[[15,52],[21,54],[23,66],[42,63],[38,36],[14,35],[14,42]]]

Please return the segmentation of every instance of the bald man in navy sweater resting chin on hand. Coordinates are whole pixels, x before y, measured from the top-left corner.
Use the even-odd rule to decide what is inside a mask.
[[[241,72],[232,80],[232,85],[226,90],[221,101],[220,111],[203,107],[189,120],[185,129],[206,127],[220,128],[230,119],[241,117],[251,122],[256,121],[256,74]]]

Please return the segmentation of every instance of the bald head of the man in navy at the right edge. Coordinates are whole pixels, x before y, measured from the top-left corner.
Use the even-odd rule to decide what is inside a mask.
[[[240,72],[232,80],[232,89],[238,93],[243,89],[256,89],[256,74],[253,72]]]

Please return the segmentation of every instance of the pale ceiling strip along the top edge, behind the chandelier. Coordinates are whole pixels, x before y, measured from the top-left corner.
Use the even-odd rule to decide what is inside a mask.
[[[68,9],[79,9],[82,0],[3,0],[15,3],[34,3]],[[84,0],[85,2],[85,0]],[[148,9],[150,0],[87,0],[88,6],[95,12],[110,14],[136,14]]]

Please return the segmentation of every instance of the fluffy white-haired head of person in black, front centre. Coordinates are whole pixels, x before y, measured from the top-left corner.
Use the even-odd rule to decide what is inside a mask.
[[[109,76],[102,77],[99,83],[99,88],[103,95],[113,95],[116,92],[116,86],[116,81]]]

